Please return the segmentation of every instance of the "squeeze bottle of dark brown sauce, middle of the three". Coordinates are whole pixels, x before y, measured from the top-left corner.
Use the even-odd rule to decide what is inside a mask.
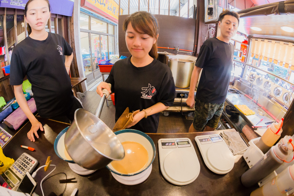
[[[251,187],[275,171],[288,156],[288,147],[280,143],[272,146],[270,150],[252,168],[241,176],[241,182],[246,187]]]

